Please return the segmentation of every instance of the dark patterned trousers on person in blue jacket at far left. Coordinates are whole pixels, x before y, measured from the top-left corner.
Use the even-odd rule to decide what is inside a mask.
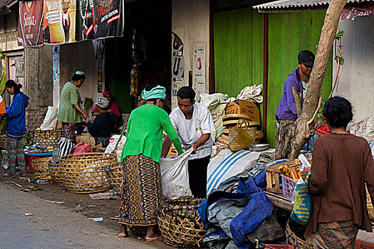
[[[21,138],[11,138],[6,139],[6,146],[8,147],[8,160],[9,169],[11,174],[16,172],[16,161],[19,163],[19,172],[21,174],[25,173],[25,154],[24,154],[24,142]]]

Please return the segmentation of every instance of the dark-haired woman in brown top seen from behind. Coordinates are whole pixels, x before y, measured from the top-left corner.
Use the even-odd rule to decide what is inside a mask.
[[[331,134],[313,147],[306,236],[312,235],[318,248],[354,248],[359,228],[373,231],[365,197],[365,184],[374,197],[373,157],[365,139],[346,132],[353,117],[348,100],[328,99],[323,116]]]

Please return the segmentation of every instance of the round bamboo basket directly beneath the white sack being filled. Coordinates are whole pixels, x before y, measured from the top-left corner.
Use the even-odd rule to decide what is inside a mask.
[[[207,233],[197,211],[202,201],[196,198],[161,201],[157,222],[165,244],[178,248],[202,244]]]

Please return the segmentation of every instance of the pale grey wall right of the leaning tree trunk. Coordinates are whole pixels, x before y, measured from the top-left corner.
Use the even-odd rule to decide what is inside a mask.
[[[344,65],[333,95],[346,97],[353,105],[353,122],[374,115],[374,15],[341,20]],[[337,63],[333,63],[333,80]]]

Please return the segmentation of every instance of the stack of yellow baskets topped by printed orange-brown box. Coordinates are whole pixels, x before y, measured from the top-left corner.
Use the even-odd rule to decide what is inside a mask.
[[[259,143],[259,139],[264,137],[263,132],[257,131],[256,126],[261,124],[259,107],[254,102],[247,100],[235,100],[229,102],[225,110],[225,116],[223,117],[224,129],[222,134],[219,135],[217,140],[223,144],[230,144],[229,133],[230,129],[240,128],[239,120],[247,120],[246,127],[251,127],[255,129],[254,144]],[[248,149],[248,148],[246,148]]]

